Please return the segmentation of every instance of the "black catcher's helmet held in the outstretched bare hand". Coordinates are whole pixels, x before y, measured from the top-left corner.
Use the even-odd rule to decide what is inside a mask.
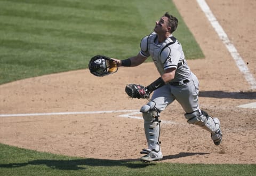
[[[95,55],[92,57],[88,67],[95,76],[106,76],[116,73],[118,70],[116,61],[105,55]]]

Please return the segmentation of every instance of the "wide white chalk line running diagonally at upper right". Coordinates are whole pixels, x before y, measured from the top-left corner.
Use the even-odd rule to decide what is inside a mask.
[[[237,52],[235,46],[229,41],[229,38],[225,31],[220,26],[217,19],[214,17],[213,13],[210,10],[210,7],[207,5],[205,0],[197,0],[197,3],[205,13],[207,19],[211,22],[211,25],[219,35],[221,41],[225,44],[228,51],[230,52],[233,59],[236,61],[236,65],[239,70],[244,74],[246,81],[251,85],[251,89],[256,89],[256,81],[253,75],[250,73],[248,67],[246,66],[244,60],[241,58],[239,53]]]

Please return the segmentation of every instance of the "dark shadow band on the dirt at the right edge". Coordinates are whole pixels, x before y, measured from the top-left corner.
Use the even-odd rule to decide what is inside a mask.
[[[256,99],[256,92],[199,91],[199,97]]]

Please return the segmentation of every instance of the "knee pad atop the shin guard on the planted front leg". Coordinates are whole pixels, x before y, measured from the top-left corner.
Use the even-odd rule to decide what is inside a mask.
[[[145,122],[152,122],[158,117],[158,110],[156,109],[156,103],[154,101],[149,101],[147,105],[143,105],[140,112]]]

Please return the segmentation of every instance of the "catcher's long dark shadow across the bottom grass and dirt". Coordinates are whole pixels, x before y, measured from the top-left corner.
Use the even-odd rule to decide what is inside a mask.
[[[194,156],[194,155],[206,155],[209,153],[179,153],[177,155],[164,156],[162,160],[174,159],[180,157]],[[23,167],[27,165],[46,165],[51,169],[58,170],[83,170],[89,166],[125,166],[132,169],[144,168],[150,165],[155,165],[156,163],[141,163],[139,159],[122,159],[122,160],[111,160],[111,159],[71,159],[71,160],[54,160],[54,159],[37,159],[34,161],[29,161],[26,163],[10,163],[10,164],[0,164],[1,168],[15,168]]]

